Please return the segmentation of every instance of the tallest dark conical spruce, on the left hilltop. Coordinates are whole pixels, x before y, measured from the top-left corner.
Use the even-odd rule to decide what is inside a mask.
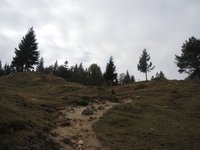
[[[38,43],[35,37],[35,32],[31,27],[19,43],[18,49],[15,48],[12,66],[15,67],[16,71],[29,71],[34,68],[34,65],[38,64],[40,52],[37,50]]]

